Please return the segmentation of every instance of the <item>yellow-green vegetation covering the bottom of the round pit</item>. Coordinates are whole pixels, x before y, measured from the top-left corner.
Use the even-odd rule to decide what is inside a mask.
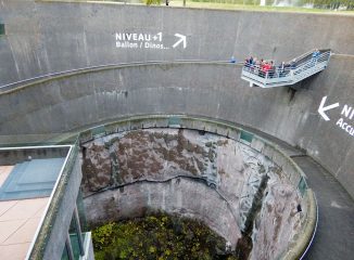
[[[237,260],[205,224],[163,213],[110,222],[92,231],[94,259]]]

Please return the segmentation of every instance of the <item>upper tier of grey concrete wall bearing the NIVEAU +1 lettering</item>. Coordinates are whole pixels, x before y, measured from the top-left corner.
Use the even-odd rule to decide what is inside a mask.
[[[7,30],[0,37],[0,86],[110,63],[226,61],[232,54],[280,62],[314,48],[354,54],[350,15],[3,0],[0,22]],[[116,48],[115,32],[162,32],[162,41],[154,42],[168,49]],[[187,36],[186,49],[173,48],[179,39],[175,34]]]

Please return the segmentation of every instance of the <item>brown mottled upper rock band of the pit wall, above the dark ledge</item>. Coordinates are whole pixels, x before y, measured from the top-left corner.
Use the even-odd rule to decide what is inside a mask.
[[[222,144],[215,136],[202,136],[197,131],[144,130],[86,144],[84,191],[90,194],[136,181],[163,181],[177,176],[217,182],[216,148]]]

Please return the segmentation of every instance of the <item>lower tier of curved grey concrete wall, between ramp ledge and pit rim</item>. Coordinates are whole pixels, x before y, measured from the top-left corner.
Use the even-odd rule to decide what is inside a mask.
[[[302,147],[354,195],[353,135],[337,125],[343,106],[353,107],[354,58],[332,56],[329,67],[288,88],[249,88],[240,67],[182,63],[128,66],[45,80],[0,94],[0,134],[81,129],[119,117],[188,114],[252,127]],[[317,113],[326,105],[340,107]],[[352,123],[354,125],[354,123]]]

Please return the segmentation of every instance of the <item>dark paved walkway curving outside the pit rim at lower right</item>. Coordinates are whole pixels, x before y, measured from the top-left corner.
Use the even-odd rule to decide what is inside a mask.
[[[334,177],[312,158],[293,159],[307,176],[318,203],[318,229],[305,259],[354,259],[354,200]]]

